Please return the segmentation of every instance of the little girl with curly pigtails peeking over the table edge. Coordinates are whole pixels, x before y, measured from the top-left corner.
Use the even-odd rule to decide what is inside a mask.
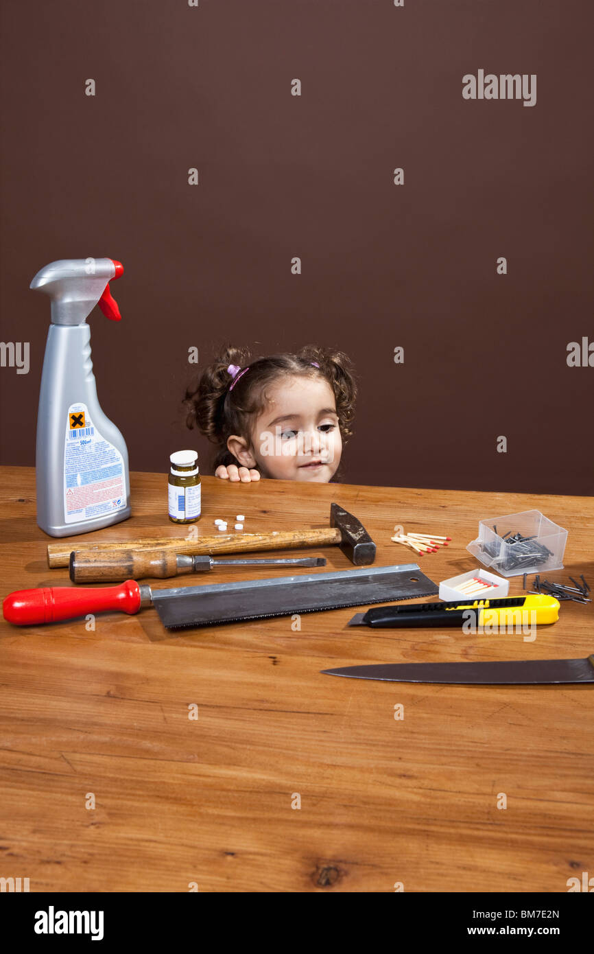
[[[308,346],[253,361],[227,348],[186,391],[186,424],[216,445],[224,480],[327,483],[351,435],[356,393],[340,351]]]

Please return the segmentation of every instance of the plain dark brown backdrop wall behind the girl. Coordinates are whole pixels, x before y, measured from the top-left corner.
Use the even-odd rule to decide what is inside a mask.
[[[0,368],[2,463],[34,462],[31,278],[109,256],[92,357],[133,469],[209,470],[189,347],[317,342],[358,370],[345,480],[592,493],[566,349],[594,341],[593,25],[591,0],[4,0],[2,340],[31,370]],[[464,100],[479,69],[536,73],[536,105]]]

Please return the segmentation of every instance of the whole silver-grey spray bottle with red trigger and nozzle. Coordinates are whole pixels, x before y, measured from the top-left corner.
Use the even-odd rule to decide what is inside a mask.
[[[106,318],[121,320],[109,281],[123,271],[113,259],[61,259],[31,281],[51,299],[35,451],[37,524],[50,536],[130,516],[128,450],[99,406],[85,321],[97,303]]]

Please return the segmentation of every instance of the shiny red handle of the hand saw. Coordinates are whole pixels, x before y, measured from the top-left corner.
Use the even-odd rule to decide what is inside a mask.
[[[44,587],[39,590],[16,590],[4,600],[4,618],[15,626],[56,623],[75,619],[88,612],[121,610],[138,612],[140,587],[135,580],[126,580],[118,587]]]

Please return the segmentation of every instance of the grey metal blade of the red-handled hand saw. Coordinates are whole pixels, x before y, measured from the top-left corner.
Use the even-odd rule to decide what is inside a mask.
[[[433,596],[438,591],[437,584],[421,572],[417,563],[407,563],[152,589],[152,598],[161,622],[171,630],[395,602]]]

